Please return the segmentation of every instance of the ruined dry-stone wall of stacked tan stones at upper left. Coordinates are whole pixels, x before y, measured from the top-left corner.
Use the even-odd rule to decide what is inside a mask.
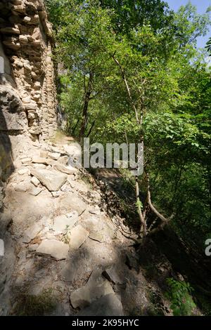
[[[52,44],[42,0],[0,0],[1,134],[27,134],[34,140],[53,136]]]

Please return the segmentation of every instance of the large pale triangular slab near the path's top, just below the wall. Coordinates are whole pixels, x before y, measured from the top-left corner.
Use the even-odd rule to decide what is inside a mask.
[[[54,170],[32,169],[32,176],[35,176],[50,192],[56,192],[64,185],[67,176]]]

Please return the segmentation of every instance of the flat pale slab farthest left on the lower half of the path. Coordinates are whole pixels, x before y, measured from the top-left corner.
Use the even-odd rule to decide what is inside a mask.
[[[55,260],[63,260],[68,256],[69,245],[56,239],[44,239],[39,244],[36,253],[40,256],[46,256]]]

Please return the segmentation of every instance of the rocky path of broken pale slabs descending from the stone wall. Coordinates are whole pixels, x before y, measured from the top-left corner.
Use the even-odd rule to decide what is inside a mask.
[[[16,147],[0,216],[0,315],[131,315],[148,303],[132,241],[103,211],[94,179],[68,166],[77,152]]]

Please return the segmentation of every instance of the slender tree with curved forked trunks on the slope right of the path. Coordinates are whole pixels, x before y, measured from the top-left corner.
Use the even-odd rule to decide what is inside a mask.
[[[190,8],[188,5],[187,10],[189,11],[189,9]],[[184,17],[181,15],[180,20],[183,21],[185,18],[186,21],[186,11],[183,11],[183,13]],[[195,11],[193,14],[195,15]],[[206,29],[206,25],[204,25],[204,28],[201,27],[202,23],[200,20],[198,25],[196,25],[196,22],[194,24],[196,29],[199,29],[198,25],[200,25],[199,30],[201,33],[203,33],[203,31]],[[184,42],[178,43],[177,40],[175,41],[174,48],[172,48],[170,51],[168,58],[163,56],[162,53],[162,38],[165,34],[159,36],[159,34],[153,33],[150,26],[142,27],[142,29],[136,30],[133,35],[130,35],[129,39],[126,37],[121,39],[120,42],[118,42],[118,40],[110,41],[110,45],[112,46],[109,50],[109,53],[119,70],[120,79],[122,79],[122,82],[124,83],[128,102],[134,112],[137,126],[134,131],[139,132],[140,134],[139,142],[145,140],[146,136],[148,136],[148,131],[149,133],[151,132],[148,130],[149,127],[146,126],[147,119],[151,117],[152,121],[154,118],[154,125],[158,125],[158,118],[162,119],[163,124],[165,124],[165,128],[162,128],[161,143],[164,143],[165,137],[167,137],[167,140],[169,141],[171,139],[174,141],[176,136],[179,137],[177,142],[173,142],[172,150],[176,156],[179,154],[179,152],[183,151],[181,154],[182,157],[181,155],[179,157],[179,166],[177,166],[177,172],[179,171],[178,174],[180,177],[184,166],[184,161],[186,161],[188,164],[188,159],[185,159],[186,156],[184,155],[184,146],[186,145],[185,150],[188,149],[189,157],[192,157],[193,159],[193,154],[196,158],[197,149],[200,152],[200,156],[201,152],[207,152],[207,147],[205,147],[205,145],[207,145],[209,140],[207,133],[200,131],[197,123],[193,123],[193,117],[191,117],[191,114],[186,113],[186,108],[194,107],[195,104],[197,104],[193,103],[193,95],[191,93],[194,91],[197,95],[197,98],[199,97],[200,93],[197,93],[199,91],[196,91],[196,88],[193,90],[193,85],[192,88],[191,86],[181,86],[180,82],[182,77],[186,77],[186,72],[189,70],[194,72],[194,68],[193,65],[190,64],[190,60],[191,58],[194,58],[194,55],[196,55],[196,51],[193,46],[195,44],[198,33],[193,34],[191,39],[189,39],[189,33],[189,30],[187,30],[188,36],[184,36]],[[134,45],[138,44],[140,45],[139,48],[134,47]],[[175,53],[177,53],[177,56]],[[118,75],[118,73],[116,74]],[[116,78],[114,80],[117,81]],[[193,81],[191,82],[193,84]],[[181,107],[184,108],[185,111],[183,116],[181,116],[181,114],[172,112],[172,110],[175,110],[176,102],[180,105],[180,111]],[[122,117],[124,121],[125,117]],[[132,123],[134,123],[134,121],[132,121],[130,125],[134,125]],[[172,123],[174,124],[172,125]],[[115,129],[120,131],[120,127],[122,126],[122,134],[125,131],[125,127],[122,125],[120,117],[113,124],[108,124],[108,127],[111,126],[114,131]],[[143,126],[146,128],[145,131],[143,130]],[[167,134],[168,131],[169,134]],[[155,138],[159,138],[159,128],[157,127],[155,128]],[[198,143],[198,139],[202,138],[205,142],[205,145]],[[140,201],[139,196],[139,179],[136,178],[136,205],[138,208],[144,236],[148,232],[146,223],[148,217],[148,206],[150,207],[151,211],[155,213],[155,216],[161,220],[161,223],[158,227],[163,227],[163,225],[167,223],[167,218],[162,216],[162,214],[151,202],[151,185],[149,173],[153,172],[153,166],[151,162],[156,161],[158,158],[155,157],[156,153],[155,150],[152,150],[154,148],[151,147],[150,140],[147,142],[148,143],[145,147],[146,194],[144,194],[142,201]],[[155,143],[155,141],[153,141],[153,143]],[[157,143],[155,143],[155,145],[157,145]],[[162,149],[161,154],[162,158],[164,158],[166,162],[167,157],[170,155],[170,145],[167,145],[167,148],[164,150]],[[164,157],[165,154],[168,154],[168,156]],[[176,159],[177,158],[174,157],[174,161],[177,164],[178,159]],[[178,180],[179,178],[176,179],[175,190],[177,190]],[[158,227],[155,230],[158,230]],[[151,225],[149,228],[151,228]]]

